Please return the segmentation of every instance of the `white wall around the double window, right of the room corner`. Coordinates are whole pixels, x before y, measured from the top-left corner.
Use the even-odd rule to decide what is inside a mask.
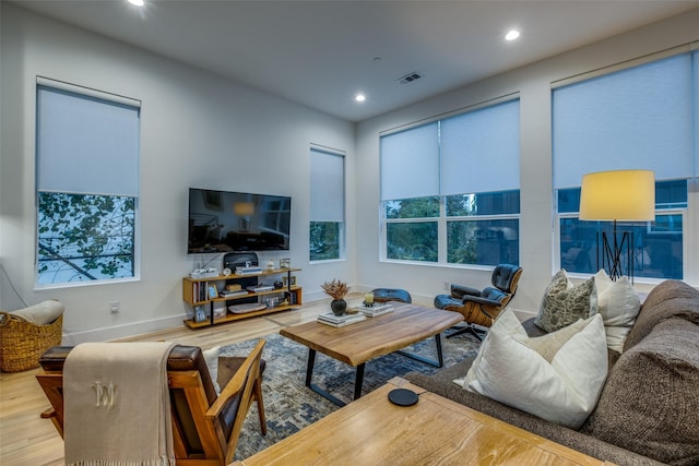
[[[364,121],[357,128],[356,171],[370,176],[371,189],[357,191],[357,260],[360,285],[401,287],[431,299],[445,282],[484,287],[490,271],[379,262],[379,133],[402,124],[453,111],[502,95],[521,98],[520,264],[524,268],[512,306],[535,312],[556,265],[553,264],[553,194],[550,83],[602,67],[642,57],[699,39],[699,10],[500,74],[419,104]],[[552,38],[555,40],[555,38]],[[521,45],[525,47],[523,40]],[[463,167],[477,170],[477,166]],[[370,175],[369,175],[370,174]],[[483,174],[497,176],[497,174]],[[697,194],[692,194],[694,198]],[[691,201],[690,201],[691,202]],[[695,205],[696,199],[694,200]],[[695,212],[696,215],[696,212]],[[696,273],[695,273],[696,274]],[[637,288],[644,285],[636,279]],[[645,285],[648,288],[648,285]]]

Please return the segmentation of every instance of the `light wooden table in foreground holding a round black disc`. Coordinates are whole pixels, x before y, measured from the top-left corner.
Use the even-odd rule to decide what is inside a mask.
[[[403,387],[416,405],[388,399]],[[394,378],[279,443],[236,462],[271,465],[605,465]]]

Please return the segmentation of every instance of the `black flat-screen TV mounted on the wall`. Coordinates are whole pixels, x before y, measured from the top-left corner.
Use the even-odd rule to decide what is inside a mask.
[[[292,198],[189,189],[189,254],[286,251]]]

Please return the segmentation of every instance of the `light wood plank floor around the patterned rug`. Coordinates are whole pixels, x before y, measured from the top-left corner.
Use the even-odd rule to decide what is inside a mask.
[[[347,299],[359,301],[360,295]],[[424,306],[430,306],[423,303]],[[168,340],[203,349],[229,345],[273,333],[288,325],[315,320],[328,312],[330,300],[304,304],[295,311],[280,312],[260,318],[245,319],[214,327],[191,330],[178,326],[166,331],[138,335],[121,340]],[[63,441],[39,414],[49,407],[44,392],[36,382],[39,369],[0,374],[0,465],[2,466],[62,466]]]

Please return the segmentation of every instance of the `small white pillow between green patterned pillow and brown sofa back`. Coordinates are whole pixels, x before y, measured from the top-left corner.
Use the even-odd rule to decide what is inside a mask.
[[[604,268],[601,268],[595,274],[594,282],[597,286],[597,309],[607,334],[607,347],[621,353],[624,342],[641,310],[641,300],[628,277],[613,282]]]

